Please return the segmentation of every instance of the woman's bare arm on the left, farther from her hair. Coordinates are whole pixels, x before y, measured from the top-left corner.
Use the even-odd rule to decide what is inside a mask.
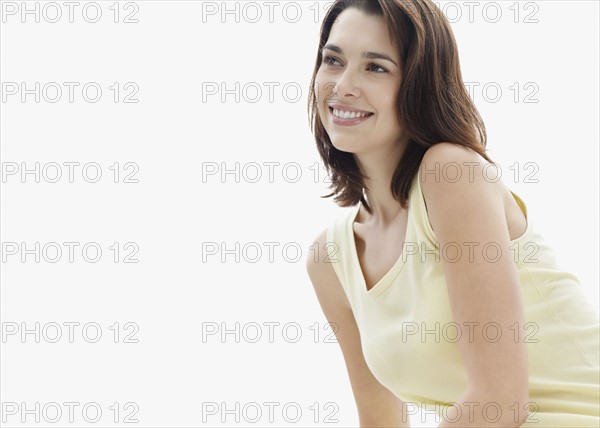
[[[324,230],[315,239],[319,249],[326,248],[326,239],[327,232]],[[346,363],[360,424],[409,427],[408,416],[403,416],[402,413],[405,407],[402,401],[377,381],[365,362],[358,327],[348,298],[325,253],[317,251],[320,259],[314,260],[314,252],[309,252],[306,270],[323,314],[336,327],[334,331]]]

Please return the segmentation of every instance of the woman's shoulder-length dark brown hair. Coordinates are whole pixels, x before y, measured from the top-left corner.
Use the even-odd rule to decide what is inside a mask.
[[[317,61],[313,71],[308,113],[319,155],[331,179],[328,198],[342,207],[362,202],[364,177],[354,154],[336,149],[325,131],[317,111],[314,90],[321,66],[321,50],[337,17],[347,8],[370,16],[382,16],[390,39],[398,50],[402,82],[398,94],[398,123],[408,137],[408,145],[391,181],[392,195],[406,208],[412,179],[427,149],[450,142],[468,147],[488,162],[485,125],[465,89],[458,48],[450,24],[431,0],[337,0],[321,26]]]

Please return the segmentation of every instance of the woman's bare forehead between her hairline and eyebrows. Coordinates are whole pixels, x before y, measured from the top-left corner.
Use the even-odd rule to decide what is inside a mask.
[[[331,27],[327,43],[344,53],[377,50],[395,58],[395,49],[382,16],[372,16],[355,9],[344,10]]]

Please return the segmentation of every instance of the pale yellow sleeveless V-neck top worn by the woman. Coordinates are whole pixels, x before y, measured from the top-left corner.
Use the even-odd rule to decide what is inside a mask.
[[[497,330],[454,322],[418,176],[409,194],[400,258],[373,288],[367,291],[352,227],[360,204],[335,219],[327,229],[327,242],[337,244],[328,246],[329,256],[375,378],[407,407],[444,417],[444,406],[458,402],[466,388],[458,334],[485,334],[494,340]],[[511,193],[527,218],[525,203]],[[531,405],[522,426],[599,427],[598,313],[579,280],[557,266],[554,251],[534,231],[531,219],[511,244],[526,323],[501,333],[527,343]]]

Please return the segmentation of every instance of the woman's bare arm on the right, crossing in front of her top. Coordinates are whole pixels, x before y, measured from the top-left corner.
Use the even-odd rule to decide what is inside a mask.
[[[462,146],[437,144],[425,153],[423,162],[422,169],[427,171],[436,166],[444,171],[448,163],[461,168],[456,182],[451,182],[455,181],[454,167],[447,169],[452,171],[447,180],[441,173],[437,179],[434,174],[422,173],[419,180],[440,248],[458,244],[462,250],[458,261],[440,259],[454,321],[461,326],[469,322],[480,326],[479,334],[463,334],[458,342],[468,386],[457,403],[460,411],[449,408],[439,427],[519,427],[528,415],[528,362],[526,344],[513,335],[515,323],[522,328],[525,321],[509,248],[503,184],[486,180],[483,167],[487,161]],[[476,163],[471,174],[464,162]],[[498,325],[486,337],[481,326],[487,323]],[[497,330],[502,335],[495,341],[491,336],[496,336]],[[486,405],[487,414],[482,411]]]

